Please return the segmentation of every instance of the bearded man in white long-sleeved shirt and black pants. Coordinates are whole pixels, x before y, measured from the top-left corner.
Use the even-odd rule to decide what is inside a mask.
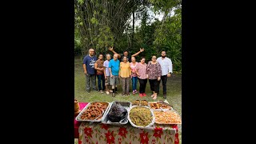
[[[170,58],[166,58],[166,51],[162,51],[161,56],[162,57],[159,57],[157,61],[159,62],[162,69],[162,77],[161,77],[162,92],[163,92],[163,98],[166,98],[166,82],[167,82],[167,77],[170,77],[170,75],[173,73],[173,63],[171,62]]]

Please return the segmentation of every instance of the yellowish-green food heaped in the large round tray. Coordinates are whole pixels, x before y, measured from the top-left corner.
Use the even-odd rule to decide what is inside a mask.
[[[148,126],[152,120],[152,114],[150,109],[146,107],[134,107],[130,110],[130,121],[136,126]]]

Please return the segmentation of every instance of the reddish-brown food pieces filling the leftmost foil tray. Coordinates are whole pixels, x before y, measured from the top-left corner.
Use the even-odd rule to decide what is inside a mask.
[[[98,120],[102,118],[102,113],[104,113],[107,106],[107,102],[92,102],[90,103],[90,106],[88,106],[86,110],[82,112],[80,118],[82,120]]]

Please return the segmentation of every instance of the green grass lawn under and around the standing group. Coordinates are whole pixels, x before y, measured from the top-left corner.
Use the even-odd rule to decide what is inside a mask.
[[[130,82],[131,83],[131,82]],[[96,85],[98,86],[98,85]],[[137,90],[139,87],[139,83],[137,86]],[[131,90],[130,85],[130,90]],[[146,97],[140,98],[138,94],[131,94],[130,96],[123,97],[122,96],[122,87],[118,85],[118,94],[115,97],[112,97],[111,94],[101,94],[97,91],[91,91],[90,93],[86,92],[86,77],[83,74],[82,69],[82,58],[75,57],[74,59],[74,98],[78,99],[78,102],[132,102],[136,99],[142,100],[145,99],[148,102],[165,100],[162,98],[162,84],[160,85],[160,94],[158,94],[158,98],[153,100],[150,98],[150,83],[146,84]],[[178,112],[182,116],[182,76],[180,75],[172,75],[171,78],[167,80],[167,94],[166,100],[170,103],[170,105],[174,106],[174,110]],[[180,134],[180,143],[182,143],[182,126],[179,126],[179,134]]]

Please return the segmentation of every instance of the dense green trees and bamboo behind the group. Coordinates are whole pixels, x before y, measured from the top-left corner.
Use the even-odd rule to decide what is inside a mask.
[[[109,46],[134,54],[143,47],[139,56],[149,61],[166,50],[174,72],[181,74],[181,0],[75,0],[74,8],[75,54],[87,54],[90,47],[106,54]],[[153,18],[152,12],[163,18]],[[134,26],[135,20],[141,20],[139,26]]]

